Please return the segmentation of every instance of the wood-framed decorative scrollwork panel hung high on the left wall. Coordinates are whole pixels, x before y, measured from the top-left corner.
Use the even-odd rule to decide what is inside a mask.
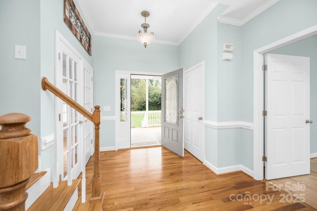
[[[73,0],[64,0],[64,23],[91,55],[91,35]]]

